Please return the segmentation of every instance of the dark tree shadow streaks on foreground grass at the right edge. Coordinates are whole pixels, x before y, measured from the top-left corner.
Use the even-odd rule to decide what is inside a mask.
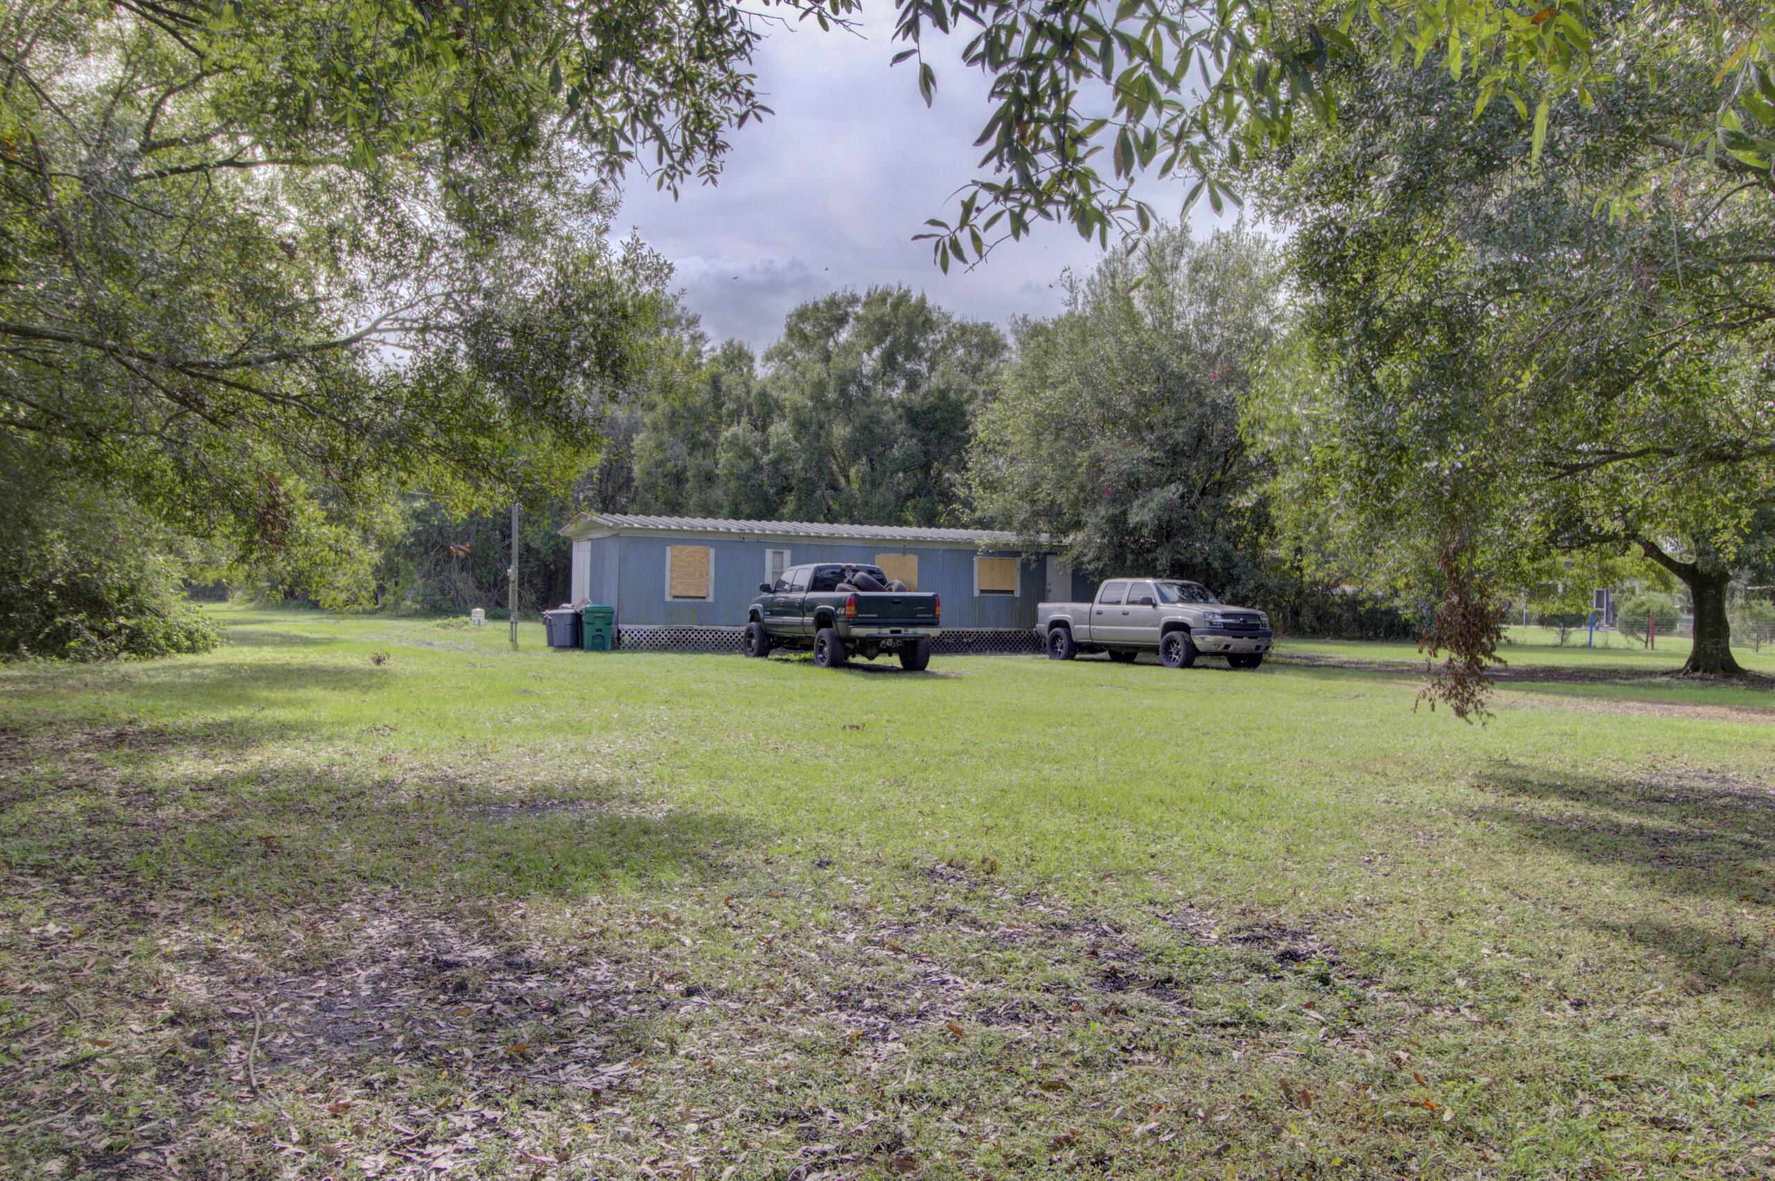
[[[1761,1000],[1775,991],[1761,920],[1740,922],[1745,904],[1775,904],[1775,787],[1690,769],[1608,778],[1521,767],[1493,771],[1479,787],[1500,799],[1479,819],[1562,856],[1624,868],[1649,892],[1711,902],[1722,923],[1587,915],[1592,929],[1665,955],[1711,987]]]

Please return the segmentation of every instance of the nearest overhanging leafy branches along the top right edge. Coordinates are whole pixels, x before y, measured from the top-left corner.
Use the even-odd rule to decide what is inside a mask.
[[[1521,11],[1496,0],[900,0],[896,36],[925,62],[928,30],[967,28],[962,59],[992,80],[980,135],[983,176],[958,208],[928,222],[935,261],[971,263],[1038,220],[1072,224],[1108,245],[1111,231],[1157,220],[1136,197],[1141,176],[1193,174],[1186,201],[1239,202],[1241,169],[1303,139],[1351,124],[1351,76],[1383,69],[1436,78],[1470,119],[1500,123],[1530,169],[1576,121],[1668,71],[1699,71],[1692,101],[1653,131],[1622,186],[1592,192],[1615,213],[1668,179],[1672,162],[1724,162],[1763,174],[1775,158],[1775,14],[1766,5],[1697,11],[1667,0],[1583,0]],[[1393,110],[1400,121],[1418,112]],[[1360,114],[1358,114],[1360,121]],[[1677,165],[1677,170],[1681,165]]]

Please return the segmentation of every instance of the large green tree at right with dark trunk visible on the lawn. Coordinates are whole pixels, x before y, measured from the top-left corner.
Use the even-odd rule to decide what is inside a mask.
[[[1637,551],[1695,602],[1688,671],[1732,673],[1725,591],[1775,494],[1768,178],[1661,146],[1709,110],[1706,55],[1617,53],[1606,108],[1560,110],[1539,160],[1445,71],[1386,64],[1262,158],[1310,341],[1271,442],[1425,581],[1448,547],[1491,586]]]

